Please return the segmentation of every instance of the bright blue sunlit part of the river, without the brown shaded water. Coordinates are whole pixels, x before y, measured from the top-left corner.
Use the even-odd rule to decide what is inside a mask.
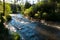
[[[21,34],[24,38],[22,40],[43,40],[42,36],[39,36],[38,32],[35,30],[37,23],[31,22],[20,14],[12,16],[12,20],[9,22],[9,25],[13,26],[10,26],[10,30]]]

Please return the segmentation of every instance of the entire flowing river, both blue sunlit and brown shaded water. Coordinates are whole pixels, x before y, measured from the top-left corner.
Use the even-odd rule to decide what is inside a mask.
[[[39,22],[32,22],[21,14],[14,15],[8,24],[9,29],[19,33],[22,38],[21,40],[60,40],[60,30],[42,25]]]

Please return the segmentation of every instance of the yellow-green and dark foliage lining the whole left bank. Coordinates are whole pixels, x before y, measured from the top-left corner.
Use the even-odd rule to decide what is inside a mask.
[[[3,4],[0,2],[0,40],[20,40],[20,36],[17,33],[14,33],[12,35],[9,34],[8,29],[6,28],[6,25],[4,23],[7,21],[9,22],[11,20],[11,16],[9,15],[11,13],[11,7],[10,4],[5,3],[5,15],[3,16]],[[11,36],[13,36],[11,38]]]

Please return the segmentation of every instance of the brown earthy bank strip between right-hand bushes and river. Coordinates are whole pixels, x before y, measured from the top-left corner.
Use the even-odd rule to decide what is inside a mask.
[[[27,19],[29,19],[29,20],[31,20],[31,21],[40,22],[43,25],[51,26],[51,27],[54,27],[54,28],[57,28],[57,29],[60,30],[60,22],[53,22],[53,21],[46,21],[46,20],[34,19],[34,18],[28,17],[28,16],[24,16],[24,17],[27,18]]]

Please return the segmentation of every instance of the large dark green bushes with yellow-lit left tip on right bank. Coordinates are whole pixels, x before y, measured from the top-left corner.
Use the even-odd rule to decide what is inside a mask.
[[[59,21],[60,20],[60,3],[59,0],[50,0],[47,2],[38,2],[24,11],[25,15],[32,18],[40,18],[45,20]],[[37,15],[37,16],[36,16]]]

